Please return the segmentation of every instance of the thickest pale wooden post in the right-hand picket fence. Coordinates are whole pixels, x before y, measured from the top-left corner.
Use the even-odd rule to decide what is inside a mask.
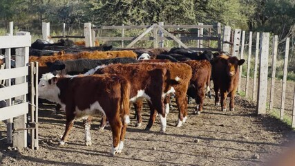
[[[267,71],[269,54],[269,33],[263,33],[260,39],[260,67],[258,77],[257,113],[266,113]]]

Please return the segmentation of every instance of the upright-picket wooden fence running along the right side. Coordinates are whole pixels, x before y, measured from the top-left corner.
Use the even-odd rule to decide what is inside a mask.
[[[237,30],[232,30],[231,33],[236,35],[236,31]],[[243,75],[243,77],[245,77],[245,84],[242,86],[240,82],[238,91],[240,93],[244,91],[245,98],[256,102],[258,114],[265,114],[270,113],[270,111],[278,110],[280,119],[291,119],[292,127],[295,127],[295,86],[294,82],[287,82],[290,50],[289,38],[287,37],[285,42],[281,44],[285,46],[280,46],[280,48],[284,49],[283,55],[278,55],[277,35],[271,37],[269,33],[246,33],[245,31],[242,31],[241,34],[242,38],[240,42],[234,44],[234,46],[238,45],[240,51],[236,52],[238,52],[237,56],[239,58],[245,59],[246,57],[246,63],[240,66],[240,73],[242,73],[242,68],[246,69],[244,70],[245,75]],[[256,39],[255,44],[253,44],[252,39]],[[247,50],[247,55],[245,50]],[[292,54],[294,55],[294,51]],[[281,62],[283,61],[283,80],[278,80],[276,78],[278,56],[283,57],[283,59],[281,59]],[[251,66],[253,64],[254,67]],[[250,77],[250,73],[253,73],[252,77]],[[281,89],[276,87],[278,85],[281,86]],[[280,100],[275,100],[275,96],[276,98],[280,98]],[[285,113],[286,102],[292,103],[288,104],[287,115]]]

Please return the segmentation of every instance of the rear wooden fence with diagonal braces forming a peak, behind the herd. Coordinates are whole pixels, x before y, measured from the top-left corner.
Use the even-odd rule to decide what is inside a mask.
[[[126,37],[126,30],[131,29],[143,29],[144,32],[137,36]],[[153,48],[165,47],[165,41],[173,40],[178,43],[179,47],[191,48],[193,50],[212,50],[221,52],[221,24],[214,25],[164,25],[164,22],[148,26],[100,26],[93,28],[93,30],[99,31],[97,39],[102,42],[114,42],[121,41],[122,48],[131,48],[136,42],[153,41]],[[104,37],[99,36],[102,30],[121,30],[121,37]],[[196,31],[196,33],[191,33]],[[148,35],[149,33],[152,35]],[[206,32],[206,33],[205,33]],[[213,33],[214,32],[214,33]],[[131,41],[127,46],[124,46],[124,41]],[[195,46],[187,46],[185,41],[196,41]],[[207,44],[204,44],[207,41]],[[212,42],[216,41],[216,46],[211,46]]]

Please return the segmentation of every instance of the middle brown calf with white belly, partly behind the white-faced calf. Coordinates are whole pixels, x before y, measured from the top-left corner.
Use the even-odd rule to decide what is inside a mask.
[[[178,73],[171,74],[164,66],[158,64],[112,64],[98,67],[95,74],[117,74],[126,77],[131,83],[130,101],[135,103],[146,99],[151,107],[151,116],[146,130],[149,130],[155,121],[154,111],[160,114],[161,130],[166,131],[166,115],[164,110],[164,98],[169,93],[173,93],[173,85],[182,84],[182,77]],[[141,116],[140,116],[141,118]],[[141,119],[142,121],[142,119]],[[140,123],[140,122],[138,122]],[[137,123],[137,126],[140,124]],[[101,127],[105,126],[102,120]]]

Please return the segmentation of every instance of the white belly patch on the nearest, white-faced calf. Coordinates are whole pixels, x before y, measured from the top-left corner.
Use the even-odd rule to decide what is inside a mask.
[[[83,118],[84,116],[93,116],[95,114],[99,114],[99,111],[106,116],[106,113],[104,112],[104,109],[100,106],[99,102],[96,101],[93,104],[90,104],[90,107],[88,109],[79,110],[78,107],[76,107],[76,111],[74,112],[75,118]]]

